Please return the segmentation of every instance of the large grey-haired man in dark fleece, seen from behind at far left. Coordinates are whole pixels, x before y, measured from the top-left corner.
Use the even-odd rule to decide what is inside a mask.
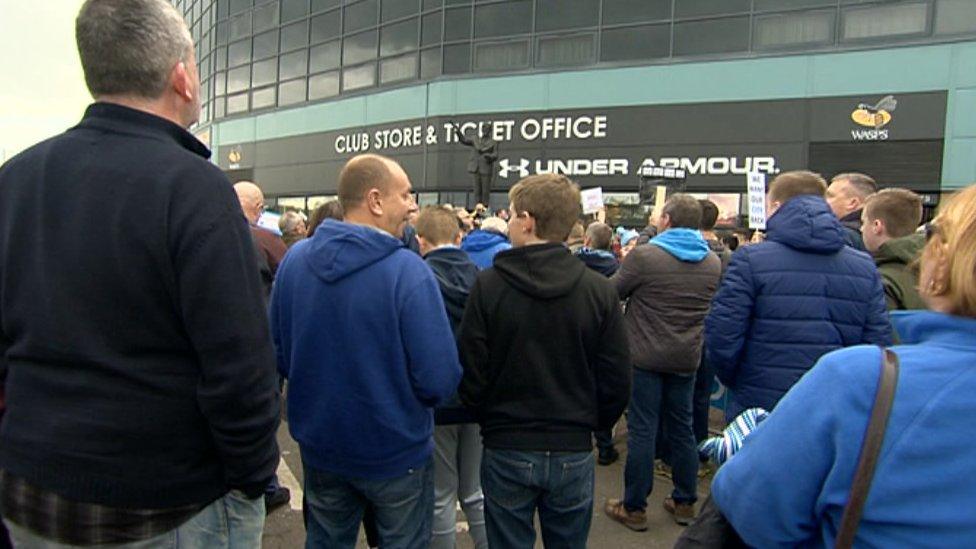
[[[0,512],[16,547],[259,547],[274,352],[190,34],[164,0],[76,33],[95,103],[0,168]]]

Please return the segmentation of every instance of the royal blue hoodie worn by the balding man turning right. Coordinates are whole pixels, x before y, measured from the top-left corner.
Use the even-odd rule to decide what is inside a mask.
[[[381,479],[430,457],[431,409],[461,366],[437,281],[403,242],[326,220],[279,267],[271,330],[309,466]]]

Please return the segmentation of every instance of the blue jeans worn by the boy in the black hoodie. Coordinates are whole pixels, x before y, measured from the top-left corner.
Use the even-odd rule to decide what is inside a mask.
[[[592,452],[485,448],[481,486],[490,547],[533,547],[536,509],[546,547],[586,547],[593,517]]]

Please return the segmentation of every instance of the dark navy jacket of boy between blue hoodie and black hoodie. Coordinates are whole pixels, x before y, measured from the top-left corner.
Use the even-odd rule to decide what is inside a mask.
[[[434,271],[441,297],[444,298],[444,307],[447,309],[447,319],[451,322],[451,331],[457,338],[468,294],[478,276],[478,266],[471,261],[467,252],[454,247],[431,250],[424,256],[424,261]],[[457,396],[445,406],[434,410],[434,422],[437,425],[475,421],[474,415],[461,406]]]

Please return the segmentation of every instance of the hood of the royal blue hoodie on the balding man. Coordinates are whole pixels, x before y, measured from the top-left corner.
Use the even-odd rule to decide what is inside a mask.
[[[326,219],[315,230],[306,261],[326,282],[341,280],[404,247],[392,235],[366,227]]]

